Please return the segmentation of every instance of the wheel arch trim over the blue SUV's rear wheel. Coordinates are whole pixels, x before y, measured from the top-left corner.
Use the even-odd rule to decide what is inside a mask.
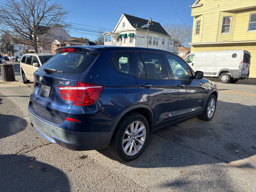
[[[136,104],[132,105],[126,109],[124,109],[116,118],[115,123],[113,124],[112,127],[112,132],[115,132],[117,125],[121,120],[124,118],[129,113],[139,113],[143,115],[147,120],[149,124],[149,130],[150,132],[154,130],[154,124],[155,124],[155,119],[154,119],[154,113],[152,109],[145,105],[145,104]]]

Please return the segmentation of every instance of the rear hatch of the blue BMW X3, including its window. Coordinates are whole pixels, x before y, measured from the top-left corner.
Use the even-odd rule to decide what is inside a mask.
[[[73,101],[64,100],[65,95],[60,94],[59,88],[77,86],[80,75],[90,71],[90,66],[99,53],[93,49],[78,47],[60,48],[56,52],[34,73],[34,92],[30,95],[29,108],[41,119],[61,124]]]

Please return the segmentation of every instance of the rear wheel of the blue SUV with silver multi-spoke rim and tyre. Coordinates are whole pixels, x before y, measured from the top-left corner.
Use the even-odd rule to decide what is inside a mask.
[[[117,125],[108,150],[120,160],[132,161],[144,151],[148,139],[147,119],[138,113],[132,113]]]

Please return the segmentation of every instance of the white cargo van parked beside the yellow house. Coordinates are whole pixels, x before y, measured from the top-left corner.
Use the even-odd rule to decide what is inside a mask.
[[[195,52],[184,60],[194,71],[219,77],[222,83],[236,83],[250,74],[251,53],[245,50]]]

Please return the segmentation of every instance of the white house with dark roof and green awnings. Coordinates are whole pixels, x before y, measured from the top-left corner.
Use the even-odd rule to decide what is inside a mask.
[[[178,41],[172,39],[160,23],[149,20],[148,48],[162,49],[178,53]],[[122,14],[112,32],[103,33],[110,36],[110,41],[104,45],[147,47],[147,28],[141,28],[148,24],[148,20],[133,15]]]

